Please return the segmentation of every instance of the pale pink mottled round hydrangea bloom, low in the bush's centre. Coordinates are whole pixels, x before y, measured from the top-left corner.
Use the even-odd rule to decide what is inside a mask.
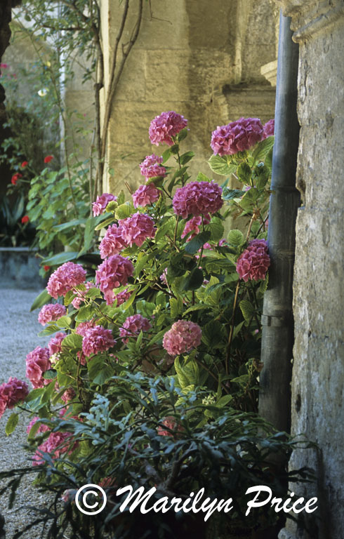
[[[202,331],[198,324],[187,320],[178,320],[167,331],[162,345],[170,356],[187,354],[201,344]]]

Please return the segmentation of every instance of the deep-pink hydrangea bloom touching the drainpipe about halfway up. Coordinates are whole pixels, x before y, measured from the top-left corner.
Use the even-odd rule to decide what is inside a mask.
[[[237,260],[237,273],[245,282],[265,279],[267,268],[270,266],[270,256],[267,254],[265,239],[252,239],[249,246]]]

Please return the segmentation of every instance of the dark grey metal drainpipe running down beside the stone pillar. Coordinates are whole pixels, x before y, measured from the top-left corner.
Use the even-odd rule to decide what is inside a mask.
[[[290,432],[293,354],[293,262],[296,213],[296,165],[300,126],[296,112],[298,45],[291,40],[291,18],[279,18],[279,47],[267,241],[271,265],[264,295],[259,413],[277,430]]]

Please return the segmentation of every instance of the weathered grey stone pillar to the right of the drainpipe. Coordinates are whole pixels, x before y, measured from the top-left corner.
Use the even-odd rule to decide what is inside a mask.
[[[296,451],[291,467],[315,469],[297,493],[319,498],[307,534],[289,524],[280,539],[342,539],[344,529],[343,1],[283,0],[300,44],[298,188],[293,310],[292,430],[319,451]],[[293,488],[294,490],[294,488]]]

